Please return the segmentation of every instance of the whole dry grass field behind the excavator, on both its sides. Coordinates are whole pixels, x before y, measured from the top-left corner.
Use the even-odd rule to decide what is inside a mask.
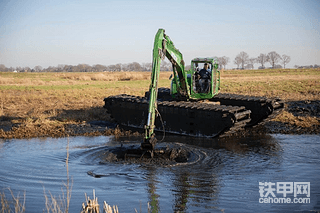
[[[170,75],[160,74],[160,87],[170,86]],[[150,76],[148,72],[0,73],[0,128],[18,124],[11,131],[0,129],[0,138],[59,136],[59,132],[64,136],[65,124],[109,120],[104,97],[143,96]],[[320,100],[320,69],[226,70],[221,72],[221,92]]]

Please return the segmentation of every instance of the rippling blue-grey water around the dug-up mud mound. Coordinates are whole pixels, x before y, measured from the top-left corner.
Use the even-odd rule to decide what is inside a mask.
[[[137,165],[110,163],[105,159],[108,150],[139,142],[105,136],[0,140],[0,189],[7,196],[7,187],[15,195],[20,192],[21,196],[25,191],[26,212],[42,212],[44,189],[47,194],[50,191],[56,197],[62,195],[61,188],[67,182],[68,146],[68,168],[73,182],[71,212],[80,211],[84,194],[92,197],[93,189],[100,204],[105,200],[118,205],[120,212],[134,212],[135,208],[147,212],[148,202],[160,212],[320,210],[319,135],[260,135],[220,140],[166,137],[167,144],[160,146],[176,143],[192,150],[187,163]],[[310,203],[260,203],[259,182],[310,182]],[[277,189],[276,185],[271,188]],[[272,192],[276,198],[284,198],[283,193]],[[293,200],[293,192],[288,192],[286,198]]]

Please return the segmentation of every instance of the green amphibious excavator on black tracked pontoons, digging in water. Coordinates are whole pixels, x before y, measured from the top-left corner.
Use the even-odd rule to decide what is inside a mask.
[[[158,88],[160,63],[171,62],[171,88]],[[155,131],[193,137],[216,137],[241,131],[275,115],[280,99],[220,93],[215,58],[194,58],[185,69],[180,51],[159,29],[154,40],[151,84],[144,97],[116,95],[104,99],[105,108],[122,126],[144,129],[141,147],[153,150]]]

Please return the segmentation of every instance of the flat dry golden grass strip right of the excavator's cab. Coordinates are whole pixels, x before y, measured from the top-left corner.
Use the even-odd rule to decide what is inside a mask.
[[[222,92],[283,100],[320,99],[320,69],[224,71],[221,78]]]

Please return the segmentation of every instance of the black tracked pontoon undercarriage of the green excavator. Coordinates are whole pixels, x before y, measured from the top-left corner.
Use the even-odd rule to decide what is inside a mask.
[[[209,101],[170,100],[159,88],[154,129],[195,137],[216,137],[235,133],[275,116],[284,107],[279,99],[220,93]],[[167,89],[169,93],[169,89]],[[148,94],[146,94],[148,95]],[[104,99],[115,121],[127,127],[144,129],[148,97],[117,95]]]

